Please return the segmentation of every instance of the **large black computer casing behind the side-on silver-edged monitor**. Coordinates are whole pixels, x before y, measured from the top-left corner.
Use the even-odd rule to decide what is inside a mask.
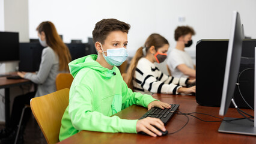
[[[254,58],[256,40],[243,40],[242,56]],[[196,46],[197,103],[202,106],[220,106],[227,58],[228,40],[200,40]],[[239,88],[251,107],[254,106],[254,64],[240,64]],[[237,86],[234,100],[240,108],[248,108]],[[233,104],[231,104],[233,107]]]

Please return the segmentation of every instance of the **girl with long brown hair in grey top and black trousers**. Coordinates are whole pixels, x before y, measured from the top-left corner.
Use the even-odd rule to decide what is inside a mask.
[[[69,72],[68,64],[71,61],[70,52],[66,44],[64,44],[59,37],[53,23],[40,23],[37,27],[37,32],[40,44],[45,47],[41,55],[38,73],[18,72],[20,77],[37,83],[37,92],[29,92],[28,94],[19,95],[14,98],[11,112],[11,127],[1,130],[1,143],[14,143],[17,125],[19,124],[22,109],[25,107],[25,104],[29,104],[33,97],[40,97],[55,92],[55,78],[57,74]],[[23,141],[23,130],[30,114],[31,110],[26,109],[22,120],[22,130],[20,130],[19,133],[19,142]]]

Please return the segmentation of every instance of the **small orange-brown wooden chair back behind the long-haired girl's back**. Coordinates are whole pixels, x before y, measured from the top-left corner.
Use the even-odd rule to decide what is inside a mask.
[[[70,88],[73,82],[73,76],[70,73],[59,73],[56,76],[56,90],[59,91],[64,88]]]

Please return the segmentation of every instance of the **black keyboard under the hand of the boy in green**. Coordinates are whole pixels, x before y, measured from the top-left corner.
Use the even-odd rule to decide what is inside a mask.
[[[148,112],[146,112],[141,118],[139,119],[144,119],[147,117],[151,118],[159,118],[163,124],[167,124],[169,119],[171,119],[172,115],[176,112],[180,104],[170,104],[171,108],[170,109],[160,109],[159,107],[153,107]]]

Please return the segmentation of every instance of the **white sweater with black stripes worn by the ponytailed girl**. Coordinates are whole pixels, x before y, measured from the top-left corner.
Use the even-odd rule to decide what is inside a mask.
[[[166,76],[148,59],[141,58],[133,76],[133,90],[142,94],[178,94],[177,89],[186,86],[187,80]]]

